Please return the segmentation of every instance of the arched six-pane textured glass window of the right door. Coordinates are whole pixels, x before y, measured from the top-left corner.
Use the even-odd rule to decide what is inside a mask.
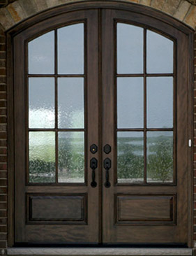
[[[175,182],[174,42],[116,23],[118,183]]]

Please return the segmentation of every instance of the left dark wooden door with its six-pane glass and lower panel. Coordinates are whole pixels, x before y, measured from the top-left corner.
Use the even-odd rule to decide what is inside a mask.
[[[97,28],[75,11],[14,38],[16,244],[98,243]]]

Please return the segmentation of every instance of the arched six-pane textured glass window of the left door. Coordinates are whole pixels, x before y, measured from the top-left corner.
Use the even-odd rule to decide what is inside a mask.
[[[28,43],[29,183],[85,181],[84,26]]]

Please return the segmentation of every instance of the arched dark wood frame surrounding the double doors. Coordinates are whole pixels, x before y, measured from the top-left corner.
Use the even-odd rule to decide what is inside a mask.
[[[68,3],[63,6],[46,10],[43,13],[30,17],[28,20],[21,22],[17,26],[8,30],[6,33],[6,47],[7,47],[7,85],[8,85],[8,246],[14,246],[14,194],[15,194],[15,180],[14,180],[14,102],[13,102],[13,38],[23,29],[31,27],[42,20],[49,17],[54,17],[61,13],[69,13],[75,10],[85,10],[90,8],[112,8],[118,10],[127,10],[135,13],[142,13],[141,15],[155,17],[157,20],[171,24],[176,29],[183,31],[188,36],[188,138],[193,141],[193,29],[186,26],[182,22],[173,17],[161,13],[152,8],[137,5],[135,3],[127,3],[122,1],[85,1],[78,3]],[[101,63],[99,65],[101,70]],[[101,91],[100,91],[101,95]],[[100,117],[101,118],[101,117]],[[101,133],[101,131],[100,131]],[[188,142],[187,142],[188,143]],[[103,145],[100,145],[103,148]],[[193,145],[188,150],[188,247],[193,247]],[[102,161],[102,159],[99,159]]]

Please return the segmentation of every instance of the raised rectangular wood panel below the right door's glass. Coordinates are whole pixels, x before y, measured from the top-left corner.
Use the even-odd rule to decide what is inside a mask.
[[[116,194],[116,223],[146,222],[168,225],[175,222],[175,195]]]

